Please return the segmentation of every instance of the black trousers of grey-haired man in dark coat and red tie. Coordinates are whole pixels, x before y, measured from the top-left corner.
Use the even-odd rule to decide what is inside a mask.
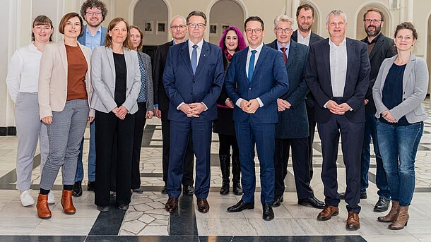
[[[309,186],[308,138],[276,139],[274,163],[276,181],[274,195],[283,195],[284,179],[288,174],[289,151],[292,147],[292,165],[298,199],[312,198],[314,193]]]

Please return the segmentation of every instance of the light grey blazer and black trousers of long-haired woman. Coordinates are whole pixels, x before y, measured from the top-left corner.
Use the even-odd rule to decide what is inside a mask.
[[[134,133],[134,114],[138,111],[136,100],[141,89],[137,53],[124,48],[126,65],[126,94],[122,103],[117,101],[117,75],[114,53],[110,47],[96,47],[91,63],[94,96],[91,107],[96,109],[96,183],[95,204],[101,207],[110,204],[111,163],[115,159],[112,150],[117,148],[117,203],[130,203],[131,159]],[[124,106],[128,110],[124,120],[115,116],[114,108]],[[117,139],[114,139],[114,137]]]

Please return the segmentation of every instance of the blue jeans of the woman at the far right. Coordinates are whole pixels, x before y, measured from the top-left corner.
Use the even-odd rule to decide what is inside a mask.
[[[377,121],[379,149],[383,158],[391,198],[400,206],[411,204],[415,190],[415,157],[423,122],[408,126],[393,126]]]

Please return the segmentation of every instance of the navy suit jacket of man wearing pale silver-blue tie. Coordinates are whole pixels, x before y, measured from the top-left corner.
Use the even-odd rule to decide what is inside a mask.
[[[208,109],[199,114],[202,121],[217,119],[215,102],[223,87],[223,57],[220,47],[203,41],[199,63],[193,75],[186,41],[175,44],[167,53],[163,85],[170,99],[167,119],[187,121],[189,118],[177,107],[182,102],[187,104],[203,102]]]

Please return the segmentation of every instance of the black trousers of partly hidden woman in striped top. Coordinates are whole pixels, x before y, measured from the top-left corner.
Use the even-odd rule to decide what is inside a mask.
[[[141,187],[141,172],[139,170],[139,163],[141,160],[141,147],[143,126],[146,122],[147,103],[138,102],[138,111],[135,115],[135,131],[134,131],[134,145],[131,158],[131,188],[137,189]]]

